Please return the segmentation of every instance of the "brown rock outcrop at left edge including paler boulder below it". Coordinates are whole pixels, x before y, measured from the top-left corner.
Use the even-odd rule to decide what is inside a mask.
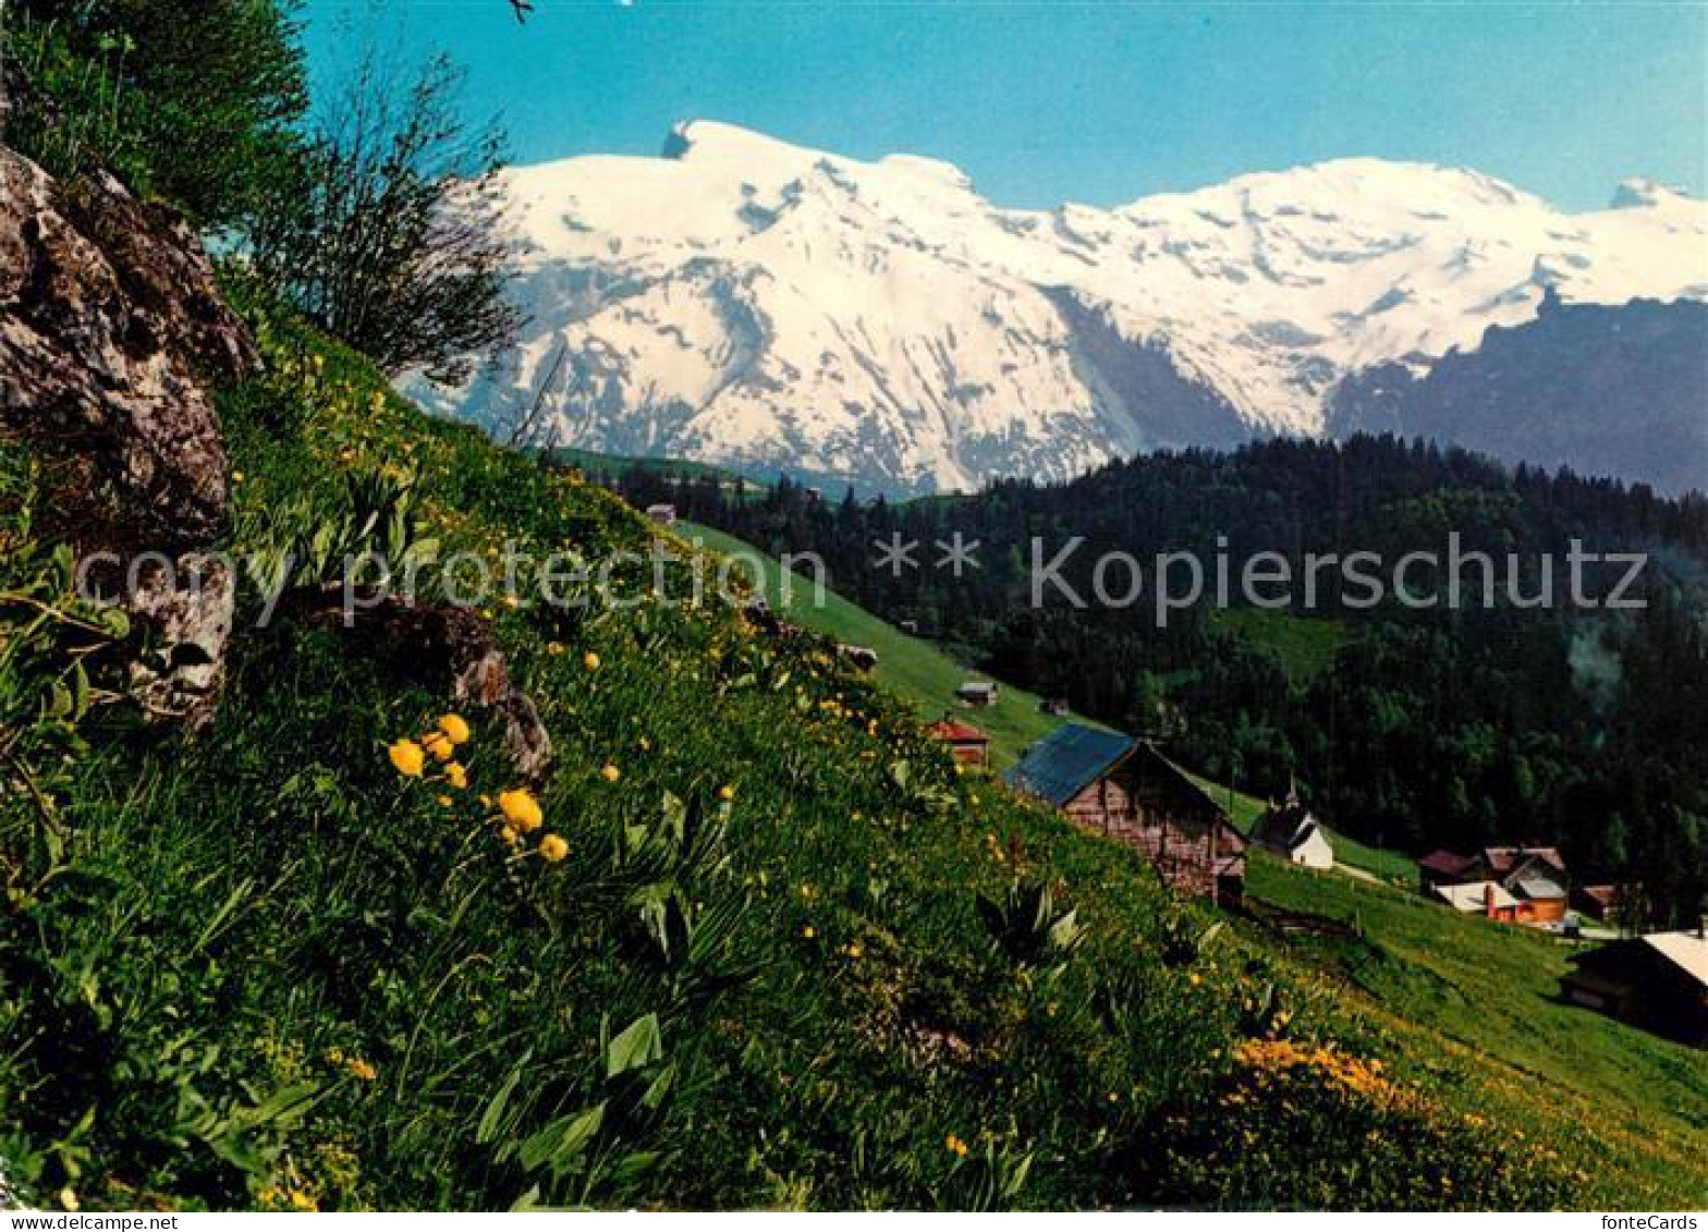
[[[179,219],[0,147],[0,429],[82,463],[56,530],[137,581],[111,593],[150,629],[130,683],[155,718],[200,721],[219,695],[234,579],[196,552],[229,511],[210,386],[258,366]]]

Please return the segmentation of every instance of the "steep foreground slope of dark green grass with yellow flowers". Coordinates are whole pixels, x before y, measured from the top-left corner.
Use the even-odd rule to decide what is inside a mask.
[[[610,494],[248,314],[268,376],[222,407],[232,549],[646,549]],[[55,461],[0,460],[0,699],[36,742],[10,747],[34,789],[0,796],[0,1159],[32,1201],[1701,1201],[1667,1124],[1592,1118],[1317,955],[1216,930],[956,774],[828,639],[734,610],[492,607],[557,745],[538,818],[504,801],[490,716],[459,716],[459,774],[417,776],[388,748],[456,730],[444,697],[336,627],[251,627],[253,593],[214,723],[142,728],[101,692],[128,631],[51,560]],[[1684,1109],[1699,1058],[1645,1047],[1650,1099]]]

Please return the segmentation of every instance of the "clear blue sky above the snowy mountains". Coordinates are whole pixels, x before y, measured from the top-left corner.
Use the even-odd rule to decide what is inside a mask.
[[[1708,179],[1699,3],[306,0],[318,80],[451,51],[518,161],[656,154],[702,116],[958,164],[1001,205],[1114,205],[1341,155],[1472,166],[1568,208]]]

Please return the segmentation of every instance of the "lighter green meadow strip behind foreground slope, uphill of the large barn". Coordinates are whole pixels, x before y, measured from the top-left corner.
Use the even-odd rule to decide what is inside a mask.
[[[951,713],[955,719],[987,733],[991,757],[997,769],[1013,766],[1030,743],[1042,740],[1062,723],[1061,718],[1038,709],[1037,694],[1006,683],[994,706],[962,706],[955,701],[955,689],[963,680],[984,680],[986,677],[956,665],[929,641],[910,637],[832,590],[827,590],[823,601],[816,603],[811,579],[799,574],[791,576],[789,601],[784,603],[782,567],[774,557],[711,526],[681,523],[678,533],[683,538],[702,542],[714,552],[757,560],[763,571],[765,596],[779,612],[786,610],[793,620],[825,632],[839,642],[878,651],[874,675],[880,683],[912,701],[924,719],[936,721],[945,713]],[[1086,719],[1076,718],[1076,721],[1085,723]]]

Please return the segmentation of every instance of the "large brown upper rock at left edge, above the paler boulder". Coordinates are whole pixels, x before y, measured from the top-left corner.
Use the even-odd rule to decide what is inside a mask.
[[[0,422],[91,458],[133,537],[190,547],[220,528],[207,381],[256,366],[183,222],[109,176],[61,186],[0,149]]]

